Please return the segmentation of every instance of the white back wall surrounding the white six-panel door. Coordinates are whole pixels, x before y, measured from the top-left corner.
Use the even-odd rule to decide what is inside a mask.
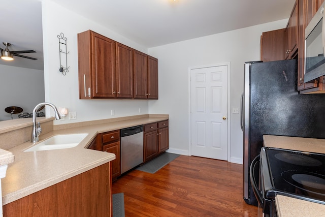
[[[244,62],[260,59],[263,32],[284,28],[286,20],[256,25],[149,48],[158,58],[159,100],[149,102],[149,113],[170,115],[170,150],[190,154],[189,144],[189,68],[231,62],[231,108],[240,107]],[[231,153],[229,161],[242,163],[243,134],[240,114],[231,115]]]

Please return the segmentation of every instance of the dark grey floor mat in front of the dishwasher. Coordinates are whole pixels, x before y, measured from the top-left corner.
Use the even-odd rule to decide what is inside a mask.
[[[157,158],[149,161],[148,163],[145,163],[144,165],[137,168],[137,170],[141,170],[143,172],[148,173],[155,173],[161,168],[163,168],[165,165],[169,164],[173,160],[175,160],[179,154],[176,153],[163,153]]]

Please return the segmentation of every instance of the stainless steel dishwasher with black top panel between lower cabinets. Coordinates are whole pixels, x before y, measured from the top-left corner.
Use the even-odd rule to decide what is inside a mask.
[[[121,174],[143,163],[143,126],[121,129]]]

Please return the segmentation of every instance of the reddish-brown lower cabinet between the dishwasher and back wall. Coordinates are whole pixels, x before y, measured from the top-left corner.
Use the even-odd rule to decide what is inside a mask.
[[[144,126],[144,157],[147,162],[169,148],[168,120],[149,123]]]

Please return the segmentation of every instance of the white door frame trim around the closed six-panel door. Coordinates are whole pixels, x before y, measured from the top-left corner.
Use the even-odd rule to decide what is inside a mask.
[[[231,62],[218,63],[218,64],[210,64],[204,66],[196,66],[188,68],[188,150],[189,156],[192,156],[192,147],[191,147],[191,70],[193,69],[201,69],[208,67],[219,67],[219,66],[227,66],[227,161],[231,162]]]

